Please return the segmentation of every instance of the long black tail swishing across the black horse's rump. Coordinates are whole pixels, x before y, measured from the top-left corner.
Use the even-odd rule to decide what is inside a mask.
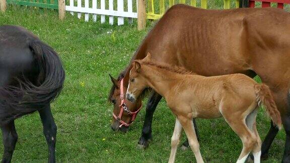
[[[28,46],[39,67],[37,81],[23,76],[17,87],[0,87],[0,125],[43,109],[62,90],[65,75],[57,53],[39,40],[28,40]]]

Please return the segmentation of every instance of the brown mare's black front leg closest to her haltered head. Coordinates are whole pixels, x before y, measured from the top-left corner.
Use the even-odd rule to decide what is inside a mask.
[[[149,141],[152,141],[152,118],[153,118],[153,113],[162,99],[162,96],[160,96],[158,93],[153,91],[151,94],[147,107],[146,107],[146,115],[145,115],[145,120],[142,128],[142,133],[141,137],[138,141],[138,144],[142,148],[146,148],[149,144]]]

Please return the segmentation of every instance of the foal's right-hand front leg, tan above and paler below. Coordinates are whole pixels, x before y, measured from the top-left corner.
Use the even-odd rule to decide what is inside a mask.
[[[200,150],[199,150],[199,143],[198,143],[195,131],[194,131],[192,119],[188,119],[183,116],[178,116],[178,120],[181,123],[186,133],[190,148],[195,155],[196,161],[203,162],[201,154],[200,154]]]

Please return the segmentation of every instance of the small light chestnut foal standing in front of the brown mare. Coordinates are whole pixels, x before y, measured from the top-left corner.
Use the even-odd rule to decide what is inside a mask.
[[[169,162],[174,162],[182,127],[197,162],[203,162],[194,131],[193,118],[224,117],[240,136],[243,149],[237,162],[245,162],[250,152],[260,162],[261,139],[256,114],[263,104],[272,121],[281,128],[280,113],[269,88],[244,74],[205,77],[183,68],[156,64],[148,54],[135,60],[129,75],[126,97],[135,102],[143,90],[152,88],[163,96],[176,115]]]

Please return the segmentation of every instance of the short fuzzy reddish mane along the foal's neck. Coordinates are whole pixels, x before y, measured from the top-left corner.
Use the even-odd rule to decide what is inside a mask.
[[[146,65],[152,65],[155,66],[157,68],[161,68],[170,72],[174,72],[174,73],[179,73],[179,74],[196,74],[192,71],[189,71],[183,67],[179,67],[179,66],[175,66],[175,65],[170,65],[167,63],[156,63],[155,61],[141,61],[140,63],[142,64],[146,64]]]

